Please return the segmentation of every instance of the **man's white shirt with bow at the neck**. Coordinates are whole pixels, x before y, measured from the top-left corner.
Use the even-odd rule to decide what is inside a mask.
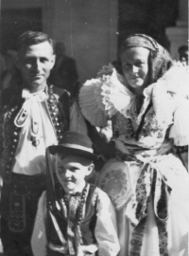
[[[58,95],[56,97],[59,98]],[[28,116],[22,125],[12,172],[26,175],[45,174],[45,149],[48,146],[58,144],[55,128],[47,107],[47,92],[40,91],[30,94],[28,90],[24,89],[23,98],[26,101],[19,113],[24,110]],[[19,114],[16,119],[19,119]],[[33,135],[31,128],[35,121],[38,123],[37,135]],[[76,102],[70,109],[70,131],[87,135],[87,127]],[[32,139],[37,140],[36,146],[33,145]]]

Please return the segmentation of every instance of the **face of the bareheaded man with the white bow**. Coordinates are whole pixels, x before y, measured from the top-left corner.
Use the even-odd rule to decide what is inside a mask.
[[[19,51],[18,66],[23,82],[30,92],[42,90],[55,64],[55,55],[48,42],[23,47]]]

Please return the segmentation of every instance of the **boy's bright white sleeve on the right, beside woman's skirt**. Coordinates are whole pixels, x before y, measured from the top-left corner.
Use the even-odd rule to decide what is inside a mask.
[[[115,256],[120,250],[116,214],[109,196],[99,190],[95,238],[99,256]]]

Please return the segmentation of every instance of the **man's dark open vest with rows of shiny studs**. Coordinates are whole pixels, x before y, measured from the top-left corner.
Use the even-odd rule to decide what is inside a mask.
[[[15,85],[8,89],[1,99],[0,105],[0,170],[4,181],[10,182],[11,171],[15,164],[15,153],[22,128],[14,125],[14,119],[20,111],[24,99],[21,98],[22,88]],[[64,91],[59,101],[54,95],[53,85],[48,88],[49,97],[46,101],[50,117],[56,130],[58,141],[62,134],[69,130],[70,97]]]

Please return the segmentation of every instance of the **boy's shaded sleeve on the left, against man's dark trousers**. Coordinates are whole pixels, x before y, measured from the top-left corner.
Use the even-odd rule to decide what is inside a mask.
[[[46,192],[43,192],[36,214],[35,224],[31,237],[31,248],[34,256],[46,256],[46,231],[45,231],[45,216],[46,216]]]

